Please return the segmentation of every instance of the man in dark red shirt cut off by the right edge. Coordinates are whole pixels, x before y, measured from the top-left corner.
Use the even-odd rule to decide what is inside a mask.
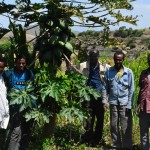
[[[143,70],[139,79],[139,96],[136,113],[139,116],[141,149],[149,150],[150,127],[150,54],[147,57],[149,67]],[[140,111],[140,112],[139,112]]]

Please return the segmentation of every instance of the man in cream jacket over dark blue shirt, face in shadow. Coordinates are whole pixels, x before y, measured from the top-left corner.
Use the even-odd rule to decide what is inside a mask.
[[[88,77],[88,86],[103,93],[104,72],[108,69],[109,65],[102,64],[100,61],[98,61],[98,58],[99,51],[90,50],[88,61],[81,63],[77,68],[79,69],[80,73]],[[102,139],[104,109],[106,108],[106,105],[103,105],[102,97],[95,99],[93,96],[91,96],[90,101],[85,102],[84,107],[87,107],[90,110],[90,117],[88,120],[86,120],[86,132],[83,135],[82,140],[83,142],[88,142],[93,146],[96,146]],[[95,117],[97,122],[94,129]]]

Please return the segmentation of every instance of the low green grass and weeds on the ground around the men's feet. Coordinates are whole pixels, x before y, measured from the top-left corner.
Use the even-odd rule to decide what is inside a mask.
[[[51,126],[50,126],[51,128]],[[66,118],[58,116],[55,131],[45,138],[42,130],[38,127],[34,132],[34,140],[30,144],[29,150],[109,150],[111,149],[109,111],[105,113],[103,139],[105,143],[96,147],[81,143],[81,135],[84,133],[82,124],[75,120],[69,124]],[[139,150],[139,123],[138,117],[133,113],[133,150]]]

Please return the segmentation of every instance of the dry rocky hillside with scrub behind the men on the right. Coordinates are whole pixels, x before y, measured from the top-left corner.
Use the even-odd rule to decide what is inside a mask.
[[[80,45],[81,48],[94,46],[102,51],[115,49],[115,46],[112,48],[102,47],[100,44],[101,36],[102,32],[99,31],[81,32],[78,34],[78,39],[73,41],[77,47]],[[110,37],[122,41],[125,50],[128,51],[150,49],[150,29],[133,30],[132,28],[121,27],[119,30],[110,31]]]

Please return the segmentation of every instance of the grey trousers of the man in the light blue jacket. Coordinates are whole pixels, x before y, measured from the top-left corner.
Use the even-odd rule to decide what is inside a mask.
[[[132,150],[131,110],[127,112],[126,106],[111,104],[110,131],[114,148]]]

